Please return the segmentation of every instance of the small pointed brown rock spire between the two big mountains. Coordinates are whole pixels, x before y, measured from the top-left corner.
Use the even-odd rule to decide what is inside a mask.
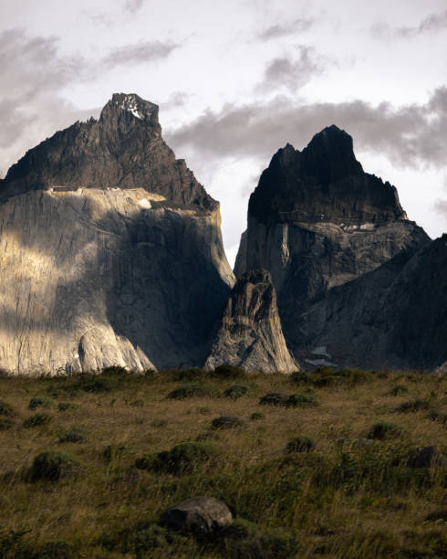
[[[271,275],[264,269],[246,272],[234,285],[205,367],[220,364],[264,373],[298,369],[284,340]]]

